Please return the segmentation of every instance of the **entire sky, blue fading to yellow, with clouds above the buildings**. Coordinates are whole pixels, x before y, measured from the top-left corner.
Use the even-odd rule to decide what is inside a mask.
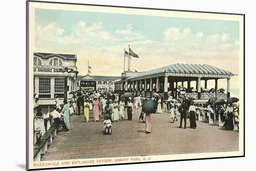
[[[140,57],[131,70],[194,63],[239,73],[238,21],[36,9],[35,24],[36,51],[77,54],[80,75],[89,61],[92,75],[120,76],[128,44]]]

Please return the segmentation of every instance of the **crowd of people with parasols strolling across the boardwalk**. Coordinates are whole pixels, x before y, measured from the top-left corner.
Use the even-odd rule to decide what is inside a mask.
[[[163,95],[153,93],[150,98],[142,98],[141,95],[134,96],[132,93],[125,96],[121,93],[93,91],[93,90],[78,90],[72,92],[68,100],[64,100],[63,104],[60,103],[59,98],[56,97],[55,105],[48,111],[42,111],[39,105],[39,98],[34,95],[34,133],[36,139],[50,127],[50,123],[54,122],[57,125],[57,131],[62,127],[63,131],[70,129],[70,116],[81,113],[84,114],[83,122],[89,122],[89,112],[93,113],[94,122],[98,122],[104,118],[104,122],[110,120],[117,122],[125,118],[125,111],[127,111],[127,119],[133,119],[133,108],[140,108],[142,119],[146,123],[146,133],[151,133],[151,115],[142,110],[143,102],[147,99],[155,101],[156,109],[152,113],[168,112],[170,114],[171,123],[178,120],[177,115],[180,115],[180,128],[184,120],[184,128],[186,128],[186,119],[189,118],[190,128],[195,129],[196,119],[198,116],[204,115],[203,120],[207,121],[208,118],[204,114],[204,108],[208,108],[210,116],[215,114],[215,120],[220,119],[224,122],[224,127],[227,130],[234,129],[234,123],[239,122],[239,109],[234,104],[194,104],[194,99],[185,96],[186,89],[179,86],[176,91],[168,92],[168,99],[164,100]],[[109,122],[109,121],[108,121]]]

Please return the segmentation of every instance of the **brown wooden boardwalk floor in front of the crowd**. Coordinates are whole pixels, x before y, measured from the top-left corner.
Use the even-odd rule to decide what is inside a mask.
[[[112,123],[112,135],[103,135],[103,118],[82,122],[84,115],[71,116],[71,129],[60,132],[49,146],[42,161],[102,158],[121,156],[165,155],[238,150],[238,132],[196,121],[197,128],[179,128],[178,121],[170,123],[167,113],[152,114],[152,133],[145,133],[145,124],[138,122],[140,110],[134,109],[133,120]],[[125,113],[127,118],[127,113]]]

